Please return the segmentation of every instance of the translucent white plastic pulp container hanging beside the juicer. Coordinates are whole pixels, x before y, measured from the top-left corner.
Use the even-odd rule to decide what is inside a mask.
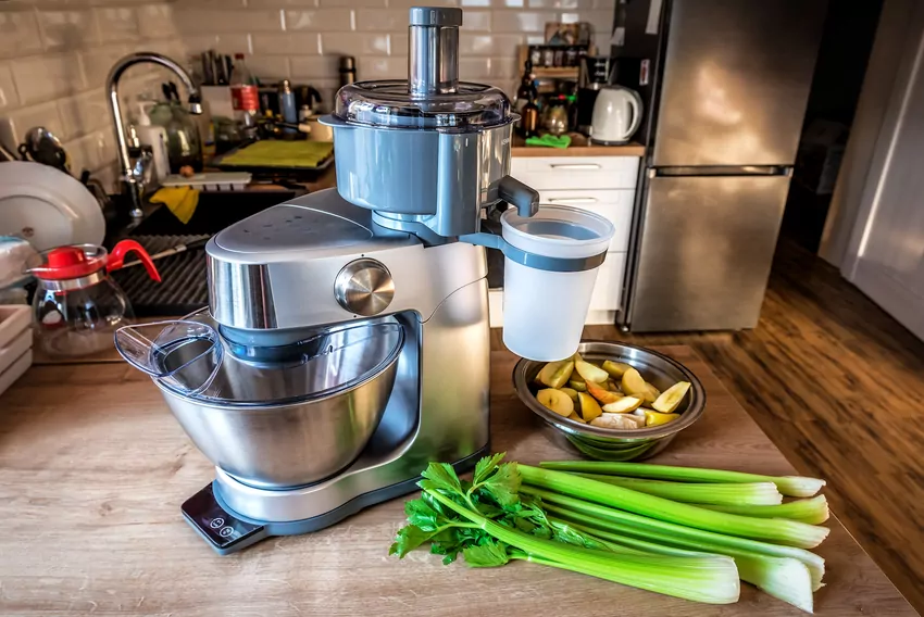
[[[604,217],[560,205],[541,205],[522,217],[511,209],[501,216],[508,244],[533,255],[580,260],[605,254],[615,234]],[[551,362],[577,351],[599,264],[579,272],[552,272],[503,265],[503,342],[528,360]]]

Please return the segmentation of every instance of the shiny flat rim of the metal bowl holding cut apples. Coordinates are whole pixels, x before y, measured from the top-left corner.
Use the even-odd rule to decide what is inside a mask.
[[[614,345],[623,349],[633,349],[636,351],[640,351],[645,354],[653,355],[674,368],[676,368],[685,378],[686,381],[690,382],[690,402],[687,404],[687,408],[680,414],[680,417],[672,423],[667,423],[661,426],[654,426],[650,428],[637,428],[633,430],[620,430],[613,428],[602,428],[596,427],[588,424],[582,424],[575,420],[570,420],[564,416],[561,416],[553,411],[547,408],[545,405],[540,404],[533,392],[529,391],[529,385],[527,380],[527,374],[529,369],[535,365],[546,364],[545,362],[536,362],[533,360],[521,358],[520,362],[516,363],[516,366],[513,367],[513,386],[516,389],[516,395],[520,396],[520,400],[523,401],[527,407],[529,407],[533,413],[537,414],[544,420],[549,424],[554,425],[557,428],[562,429],[565,432],[583,436],[583,437],[599,437],[599,438],[616,438],[621,441],[625,440],[652,440],[652,439],[661,439],[667,437],[670,435],[674,435],[679,432],[694,424],[699,417],[702,415],[702,412],[706,410],[706,389],[702,387],[702,382],[694,375],[689,368],[677,362],[672,357],[667,357],[662,353],[658,353],[657,351],[650,350],[648,348],[633,345],[628,343],[621,343],[615,341],[602,341],[602,340],[592,340],[592,339],[584,339],[580,341],[580,344],[591,343],[597,345]],[[591,352],[588,352],[590,354]],[[617,353],[614,353],[614,356],[619,356]]]

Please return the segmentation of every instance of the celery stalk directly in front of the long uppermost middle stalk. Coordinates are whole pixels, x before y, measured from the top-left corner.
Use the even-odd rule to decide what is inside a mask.
[[[542,507],[550,514],[566,516],[570,520],[578,520],[585,525],[591,524],[608,531],[617,531],[662,544],[704,553],[725,554],[726,550],[732,549],[771,557],[792,557],[799,559],[809,568],[809,574],[812,577],[812,590],[816,591],[822,587],[824,558],[803,549],[684,527],[683,525],[613,509],[532,487],[523,487],[521,493],[540,498]]]

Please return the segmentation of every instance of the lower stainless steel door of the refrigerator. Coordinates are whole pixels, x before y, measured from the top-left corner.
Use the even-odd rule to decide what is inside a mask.
[[[629,328],[753,328],[788,189],[788,176],[651,178]]]

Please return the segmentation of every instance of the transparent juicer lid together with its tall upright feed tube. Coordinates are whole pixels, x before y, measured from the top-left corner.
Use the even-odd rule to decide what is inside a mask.
[[[359,81],[340,88],[334,117],[372,127],[479,130],[516,119],[499,88],[459,81],[462,10],[410,11],[408,79]]]

